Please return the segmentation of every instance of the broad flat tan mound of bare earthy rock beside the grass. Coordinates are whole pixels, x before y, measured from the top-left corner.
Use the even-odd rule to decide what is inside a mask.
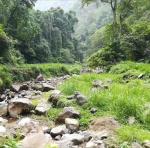
[[[115,120],[114,117],[102,117],[93,119],[90,124],[90,129],[94,131],[107,131],[112,132],[115,128],[119,127],[118,121]]]

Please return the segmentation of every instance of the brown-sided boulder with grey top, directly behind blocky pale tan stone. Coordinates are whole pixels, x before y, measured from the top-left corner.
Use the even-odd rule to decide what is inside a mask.
[[[65,107],[56,117],[55,123],[65,123],[66,118],[79,118],[80,113],[73,107]]]

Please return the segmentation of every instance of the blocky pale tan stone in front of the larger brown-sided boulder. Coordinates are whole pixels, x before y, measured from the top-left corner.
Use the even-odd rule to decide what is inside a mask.
[[[79,122],[76,119],[66,118],[65,124],[66,124],[66,127],[72,132],[75,132],[79,129]]]

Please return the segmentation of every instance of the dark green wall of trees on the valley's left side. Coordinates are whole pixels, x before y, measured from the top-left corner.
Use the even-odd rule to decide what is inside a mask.
[[[72,37],[78,22],[73,11],[61,8],[34,11],[35,1],[0,1],[0,63],[82,61]]]

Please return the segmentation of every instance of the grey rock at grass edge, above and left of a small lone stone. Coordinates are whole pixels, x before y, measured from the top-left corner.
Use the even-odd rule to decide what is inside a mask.
[[[87,102],[87,98],[84,95],[80,94],[79,92],[74,93],[74,98],[76,99],[76,103],[78,105],[83,105],[84,103]]]

